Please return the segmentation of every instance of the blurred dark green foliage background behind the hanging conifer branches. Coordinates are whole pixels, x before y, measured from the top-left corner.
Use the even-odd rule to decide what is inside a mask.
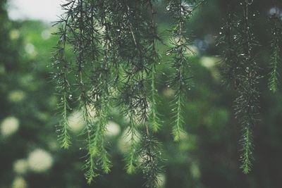
[[[233,115],[235,92],[221,84],[215,36],[226,15],[225,0],[209,0],[189,25],[197,52],[191,56],[195,75],[185,104],[185,130],[179,144],[171,136],[174,91],[167,87],[166,56],[158,68],[159,112],[164,127],[157,134],[163,144],[165,171],[159,187],[178,188],[279,188],[282,187],[282,95],[267,89],[269,73],[269,12],[274,1],[255,0],[257,61],[262,68],[259,89],[260,121],[255,126],[255,162],[249,175],[240,170],[240,125]],[[32,7],[31,7],[32,8]],[[42,7],[44,8],[44,7]],[[239,7],[240,8],[240,7]],[[169,19],[166,7],[157,7],[159,32],[167,43]],[[40,10],[39,10],[40,11]],[[238,9],[240,11],[240,9]],[[10,20],[6,1],[0,0],[0,187],[80,188],[143,187],[142,175],[126,175],[123,138],[127,120],[113,110],[107,139],[114,167],[109,175],[85,183],[81,169],[84,151],[78,136],[83,128],[80,112],[69,117],[73,128],[71,149],[60,149],[55,125],[57,97],[51,82],[51,56],[56,46],[56,28],[35,20]],[[159,46],[164,51],[165,46]],[[165,73],[165,74],[163,74]]]

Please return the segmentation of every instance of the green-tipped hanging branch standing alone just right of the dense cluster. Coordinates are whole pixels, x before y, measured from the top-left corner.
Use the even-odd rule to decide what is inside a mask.
[[[175,124],[173,125],[173,137],[175,141],[180,139],[181,132],[184,132],[183,124],[183,104],[185,103],[185,91],[189,87],[189,80],[187,69],[189,67],[188,55],[193,54],[190,45],[192,44],[190,36],[185,31],[192,13],[204,1],[169,1],[166,9],[173,18],[173,25],[171,27],[171,49],[167,51],[167,55],[171,56],[171,63],[175,72],[171,77],[169,85],[176,89],[176,96],[173,100],[173,113]]]

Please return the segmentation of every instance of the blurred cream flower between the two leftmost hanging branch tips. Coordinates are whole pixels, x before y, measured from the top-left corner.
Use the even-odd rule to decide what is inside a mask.
[[[68,125],[73,132],[80,132],[85,127],[85,122],[82,117],[82,112],[74,111],[68,116]]]

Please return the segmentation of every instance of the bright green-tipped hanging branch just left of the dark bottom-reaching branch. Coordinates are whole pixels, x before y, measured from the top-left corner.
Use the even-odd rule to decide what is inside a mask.
[[[137,119],[137,94],[139,91],[139,86],[137,85],[137,75],[140,74],[137,69],[138,63],[142,65],[142,62],[138,62],[140,57],[140,49],[137,49],[137,42],[135,37],[135,32],[133,32],[133,23],[136,22],[136,13],[133,8],[134,2],[125,2],[123,1],[123,5],[121,5],[120,18],[124,18],[124,20],[120,20],[118,23],[118,32],[121,32],[120,37],[118,39],[119,45],[124,45],[125,43],[125,51],[121,51],[123,48],[119,49],[118,54],[120,54],[121,58],[125,59],[126,63],[123,63],[121,66],[125,72],[125,76],[121,79],[121,97],[119,97],[119,106],[123,106],[123,113],[125,116],[129,118],[129,128],[126,137],[129,138],[130,149],[125,154],[125,168],[129,174],[135,173],[137,168],[137,146],[139,140],[139,130],[137,129],[138,119]],[[135,27],[134,27],[135,28]],[[139,47],[139,46],[138,46]],[[134,50],[135,53],[125,54],[128,51]],[[138,56],[135,56],[138,54]],[[142,74],[142,73],[141,73]]]

